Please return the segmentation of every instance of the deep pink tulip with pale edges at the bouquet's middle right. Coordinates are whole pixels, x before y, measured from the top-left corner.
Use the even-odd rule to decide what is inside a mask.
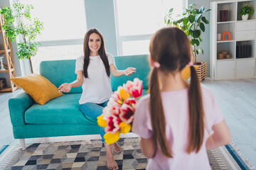
[[[133,119],[134,119],[134,111],[135,109],[132,108],[132,106],[129,106],[127,104],[123,104],[122,107],[120,108],[120,115],[119,118],[124,121],[124,123],[132,123]]]

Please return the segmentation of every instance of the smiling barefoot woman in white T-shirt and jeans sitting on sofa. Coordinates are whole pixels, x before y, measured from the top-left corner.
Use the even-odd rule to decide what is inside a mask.
[[[114,77],[120,77],[124,74],[129,76],[135,72],[135,68],[129,67],[125,70],[118,70],[114,64],[113,55],[106,53],[102,34],[96,28],[91,28],[85,34],[84,56],[78,57],[75,63],[77,79],[70,84],[62,84],[59,89],[68,93],[72,87],[82,86],[82,96],[79,101],[80,111],[96,119],[102,114],[103,108],[107,106],[112,95],[110,71]],[[117,143],[112,146],[105,143],[104,128],[101,128],[100,135],[106,148],[107,168],[118,169],[112,149],[117,153],[122,152],[122,149]]]

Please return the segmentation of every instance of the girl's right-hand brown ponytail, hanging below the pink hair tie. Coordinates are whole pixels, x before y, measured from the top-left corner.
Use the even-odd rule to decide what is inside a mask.
[[[188,147],[186,152],[190,154],[200,150],[203,144],[204,123],[203,123],[203,102],[201,86],[198,81],[196,69],[191,66],[191,84],[188,89],[188,111],[189,111],[189,134]]]

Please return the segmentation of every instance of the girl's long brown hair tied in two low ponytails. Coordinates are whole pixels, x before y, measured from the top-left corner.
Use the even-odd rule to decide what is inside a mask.
[[[161,67],[153,67],[150,74],[150,112],[151,124],[154,132],[154,142],[159,143],[161,152],[166,157],[173,157],[173,153],[166,139],[166,120],[159,89],[158,71],[181,72],[186,64],[191,61],[191,43],[187,35],[179,28],[169,27],[158,30],[149,45],[149,52],[155,62]],[[201,87],[196,74],[196,69],[191,67],[191,84],[188,89],[189,130],[188,147],[190,154],[200,150],[203,144],[203,103]]]

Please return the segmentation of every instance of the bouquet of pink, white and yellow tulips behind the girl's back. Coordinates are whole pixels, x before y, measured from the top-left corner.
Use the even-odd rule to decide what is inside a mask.
[[[131,131],[137,99],[142,96],[142,81],[135,78],[119,86],[110,98],[97,123],[105,128],[105,142],[110,145],[117,142],[121,133]]]

